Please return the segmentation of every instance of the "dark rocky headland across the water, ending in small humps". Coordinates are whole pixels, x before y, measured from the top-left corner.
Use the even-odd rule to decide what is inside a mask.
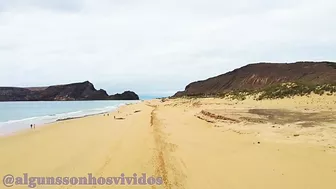
[[[0,87],[0,101],[71,100],[139,100],[139,96],[132,91],[108,95],[103,89],[96,90],[89,81],[49,87]]]

